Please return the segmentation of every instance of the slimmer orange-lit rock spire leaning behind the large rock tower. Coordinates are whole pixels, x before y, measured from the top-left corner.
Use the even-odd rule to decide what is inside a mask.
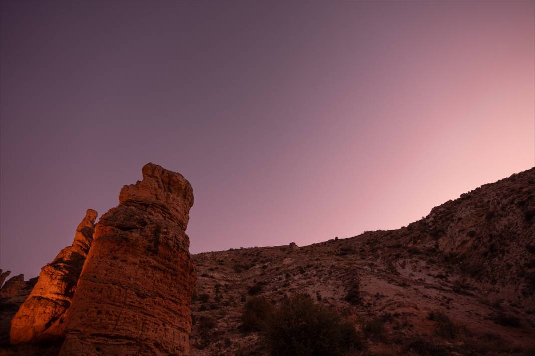
[[[65,312],[71,305],[83,263],[86,260],[97,212],[87,210],[76,229],[72,246],[41,268],[39,279],[28,299],[11,321],[11,344],[62,338]]]

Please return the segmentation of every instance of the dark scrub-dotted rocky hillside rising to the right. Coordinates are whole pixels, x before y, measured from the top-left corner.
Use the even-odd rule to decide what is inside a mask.
[[[363,354],[535,354],[534,194],[531,169],[399,230],[195,255],[192,354],[267,354],[244,306],[295,294],[353,323]]]

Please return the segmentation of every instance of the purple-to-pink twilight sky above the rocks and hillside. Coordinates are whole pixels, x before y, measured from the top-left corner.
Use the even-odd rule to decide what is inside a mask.
[[[0,268],[148,162],[194,254],[407,226],[535,166],[535,2],[0,3]]]

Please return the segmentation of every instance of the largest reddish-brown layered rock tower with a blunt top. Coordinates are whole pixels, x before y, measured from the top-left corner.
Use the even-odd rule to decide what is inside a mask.
[[[189,355],[193,189],[155,164],[95,227],[60,355]]]

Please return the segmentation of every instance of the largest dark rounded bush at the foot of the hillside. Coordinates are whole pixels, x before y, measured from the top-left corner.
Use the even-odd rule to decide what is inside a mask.
[[[353,325],[312,302],[308,295],[284,299],[266,325],[270,354],[345,356],[363,349]]]

